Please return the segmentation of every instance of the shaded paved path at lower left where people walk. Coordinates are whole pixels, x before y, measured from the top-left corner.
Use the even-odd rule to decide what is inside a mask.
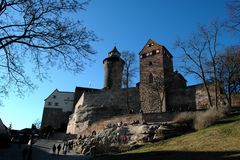
[[[43,141],[41,142],[43,144]],[[51,144],[52,142],[46,141],[46,144]],[[8,148],[0,149],[0,160],[23,160],[22,151],[27,145],[21,145],[19,147],[16,144],[12,144]],[[51,148],[41,145],[33,145],[32,149],[32,160],[91,160],[90,157],[85,157],[82,155],[74,154],[73,152],[67,155],[53,155],[51,153]],[[27,160],[27,159],[26,159]]]

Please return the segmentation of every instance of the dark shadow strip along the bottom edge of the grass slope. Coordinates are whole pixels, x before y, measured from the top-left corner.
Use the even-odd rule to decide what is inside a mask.
[[[239,160],[240,151],[229,152],[187,152],[158,151],[125,153],[96,157],[96,160]]]

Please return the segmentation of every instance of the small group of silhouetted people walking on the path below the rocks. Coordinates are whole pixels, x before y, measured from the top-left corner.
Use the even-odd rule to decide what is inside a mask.
[[[54,144],[52,147],[52,152],[53,152],[53,154],[56,154],[56,152],[57,152],[57,155],[59,155],[61,149],[62,149],[63,154],[66,155],[67,152],[70,152],[70,150],[73,149],[73,141],[64,142],[63,147],[61,144],[58,144],[57,146],[56,146],[56,144]]]

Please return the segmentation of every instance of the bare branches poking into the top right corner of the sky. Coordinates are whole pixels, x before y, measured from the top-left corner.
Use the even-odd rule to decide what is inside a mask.
[[[240,32],[240,0],[231,0],[227,3],[229,13],[228,26],[233,30]]]

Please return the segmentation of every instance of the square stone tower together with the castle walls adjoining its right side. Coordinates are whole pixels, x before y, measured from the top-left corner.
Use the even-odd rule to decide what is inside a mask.
[[[189,111],[208,106],[203,85],[187,86],[185,78],[173,70],[173,56],[166,47],[150,39],[139,58],[140,102],[144,112]]]

